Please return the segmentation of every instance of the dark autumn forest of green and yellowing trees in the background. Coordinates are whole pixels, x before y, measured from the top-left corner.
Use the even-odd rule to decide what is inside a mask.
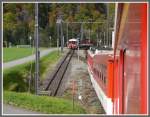
[[[101,22],[101,24],[83,24],[83,37],[101,38],[100,32],[106,31],[106,21],[113,28],[115,4],[109,4],[109,18],[105,3],[39,3],[39,39],[41,47],[57,45],[57,18],[61,15],[64,22]],[[3,4],[3,46],[33,45],[35,30],[35,4]],[[63,35],[66,41],[66,23],[63,23]],[[91,34],[89,36],[89,29]],[[80,38],[81,24],[68,24],[68,38]]]

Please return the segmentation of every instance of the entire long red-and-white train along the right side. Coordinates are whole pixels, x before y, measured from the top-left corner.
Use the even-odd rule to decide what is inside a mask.
[[[147,3],[116,8],[114,49],[87,52],[91,82],[106,114],[147,114]]]

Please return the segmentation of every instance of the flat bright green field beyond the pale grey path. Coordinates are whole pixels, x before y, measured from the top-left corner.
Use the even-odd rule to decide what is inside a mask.
[[[23,58],[32,54],[32,48],[3,48],[3,62]]]

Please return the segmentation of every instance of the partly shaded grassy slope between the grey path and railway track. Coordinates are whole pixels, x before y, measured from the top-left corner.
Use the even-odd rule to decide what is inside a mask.
[[[61,55],[58,56],[57,51],[53,51],[50,54],[42,57],[40,60],[40,77],[47,71],[47,67],[53,65],[58,61]],[[32,63],[32,79],[34,79],[34,63]],[[5,69],[3,71],[3,83],[4,90],[10,91],[27,91],[28,80],[30,73],[31,62],[18,65],[13,68]],[[42,78],[43,79],[43,78]]]

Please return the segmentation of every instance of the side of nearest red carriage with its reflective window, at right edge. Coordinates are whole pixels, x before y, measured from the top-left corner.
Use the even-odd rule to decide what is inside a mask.
[[[126,9],[124,9],[126,8]],[[119,108],[123,114],[147,113],[147,4],[131,3],[122,7],[116,50],[120,54]],[[119,24],[118,24],[119,25]],[[121,57],[122,56],[122,57]],[[123,64],[123,65],[122,65]],[[122,97],[122,98],[121,98]]]

